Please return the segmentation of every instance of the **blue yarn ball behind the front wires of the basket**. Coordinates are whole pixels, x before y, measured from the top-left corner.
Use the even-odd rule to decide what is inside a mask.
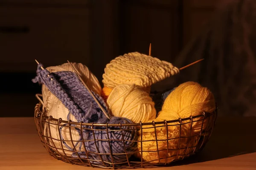
[[[112,117],[111,120],[108,122],[108,124],[131,124],[131,120],[121,117]],[[103,153],[104,155],[101,155],[101,158],[103,161],[107,161],[109,163],[112,163],[112,157],[111,157],[111,151],[113,154],[113,162],[114,163],[120,163],[127,161],[127,157],[130,158],[130,156],[134,153],[135,150],[137,150],[137,130],[134,126],[122,126],[121,127],[108,127],[108,133],[106,131],[106,128],[104,127],[94,127],[98,128],[99,130],[94,130],[94,135],[96,139],[96,143],[94,142],[94,137],[92,131],[90,132],[88,136],[88,142],[84,142],[85,147],[87,151],[90,152],[89,159],[93,160],[101,160],[100,155],[97,153]],[[123,136],[122,137],[122,133]],[[108,142],[108,137],[110,139],[110,146]],[[97,139],[103,139],[103,140],[97,140]],[[125,143],[123,142],[125,141]],[[99,149],[99,152],[96,148],[96,145]],[[126,152],[125,152],[126,150]],[[126,154],[128,153],[128,154]],[[86,157],[84,153],[79,153],[80,157]],[[74,155],[74,157],[76,157]],[[102,164],[101,161],[91,161],[94,164]]]

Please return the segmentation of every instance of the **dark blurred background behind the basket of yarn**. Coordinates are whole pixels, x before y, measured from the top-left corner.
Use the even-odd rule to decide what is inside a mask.
[[[201,63],[152,87],[196,81],[210,88],[219,116],[256,116],[254,0],[0,0],[0,116],[34,116],[44,67],[81,62],[102,80],[128,52],[178,68]]]

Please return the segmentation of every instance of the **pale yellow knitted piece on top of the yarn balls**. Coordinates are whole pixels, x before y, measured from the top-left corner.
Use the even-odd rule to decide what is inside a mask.
[[[177,73],[179,69],[172,63],[133,52],[116,57],[107,64],[102,82],[108,88],[123,84],[146,88]]]

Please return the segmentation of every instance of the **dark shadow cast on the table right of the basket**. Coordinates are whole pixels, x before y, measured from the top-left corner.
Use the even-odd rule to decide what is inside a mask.
[[[172,166],[211,161],[256,152],[256,117],[218,117],[201,152]]]

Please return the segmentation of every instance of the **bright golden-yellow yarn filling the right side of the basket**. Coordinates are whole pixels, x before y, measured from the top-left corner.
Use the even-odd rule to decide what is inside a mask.
[[[164,120],[177,120],[179,118],[187,118],[189,116],[200,115],[203,112],[213,112],[215,110],[215,100],[212,93],[196,82],[185,82],[175,88],[164,101],[162,111],[158,113],[155,122]],[[209,124],[208,119],[204,119],[203,130]],[[192,123],[192,136],[188,141],[191,123],[174,122],[168,125],[168,133],[166,125],[156,125],[156,129],[143,129],[142,140],[143,150],[152,152],[143,152],[143,159],[152,163],[167,163],[173,161],[180,156],[186,156],[197,144],[199,133],[202,126],[202,118],[197,118]],[[146,127],[153,127],[146,126]],[[144,127],[143,127],[144,128]],[[157,135],[155,135],[155,133]],[[167,134],[168,134],[168,152],[167,152]],[[183,138],[180,138],[179,135]],[[155,140],[158,140],[157,142]],[[154,141],[150,141],[154,140]],[[159,141],[160,140],[160,141]],[[156,144],[157,143],[157,144]],[[189,147],[187,147],[189,146]],[[158,147],[158,148],[157,148]],[[185,148],[185,149],[180,149]],[[188,149],[186,149],[188,148]],[[141,151],[140,142],[138,149]],[[159,150],[159,152],[156,152]],[[177,153],[178,150],[178,153]],[[159,156],[158,156],[159,153]]]

